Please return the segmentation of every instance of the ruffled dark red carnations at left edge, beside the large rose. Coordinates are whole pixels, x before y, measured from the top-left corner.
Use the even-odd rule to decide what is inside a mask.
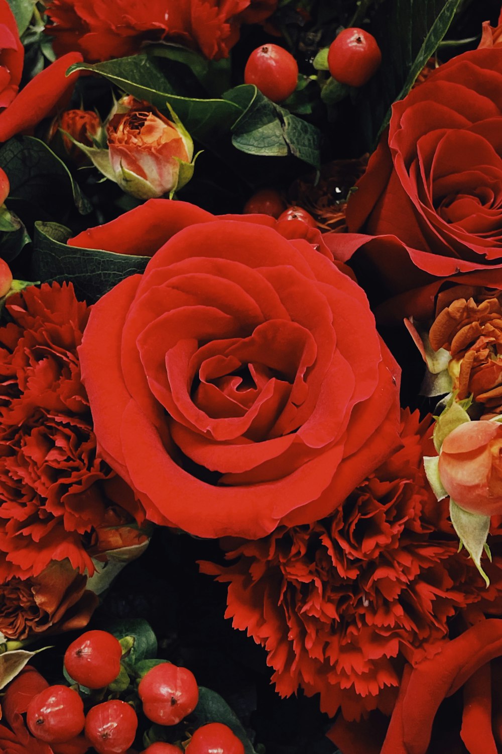
[[[77,357],[89,309],[71,285],[29,287],[8,299],[0,329],[0,579],[38,577],[68,558],[94,571],[90,548],[129,488],[96,455]],[[129,516],[132,520],[132,516]]]

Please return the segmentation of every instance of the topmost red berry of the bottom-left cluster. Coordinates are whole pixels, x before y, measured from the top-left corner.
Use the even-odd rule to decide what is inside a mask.
[[[87,688],[102,688],[120,673],[120,642],[108,631],[86,631],[65,651],[65,668]]]

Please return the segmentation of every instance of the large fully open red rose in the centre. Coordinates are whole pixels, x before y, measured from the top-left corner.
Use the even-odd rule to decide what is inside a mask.
[[[398,369],[364,292],[261,216],[132,215],[79,238],[166,241],[99,299],[79,349],[104,457],[152,520],[202,537],[330,513],[398,441]]]

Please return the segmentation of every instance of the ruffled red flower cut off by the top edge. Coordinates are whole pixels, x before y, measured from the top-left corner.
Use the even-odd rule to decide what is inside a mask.
[[[47,32],[56,54],[79,51],[86,60],[132,55],[142,42],[166,38],[219,60],[238,41],[243,21],[261,21],[276,5],[277,0],[140,0],[134,6],[129,0],[52,0]]]

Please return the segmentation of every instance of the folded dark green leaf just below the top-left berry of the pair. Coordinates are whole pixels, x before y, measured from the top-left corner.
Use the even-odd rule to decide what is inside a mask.
[[[269,157],[291,154],[318,167],[321,135],[315,126],[272,103],[252,84],[235,87],[224,98],[244,110],[232,127],[237,149]]]

